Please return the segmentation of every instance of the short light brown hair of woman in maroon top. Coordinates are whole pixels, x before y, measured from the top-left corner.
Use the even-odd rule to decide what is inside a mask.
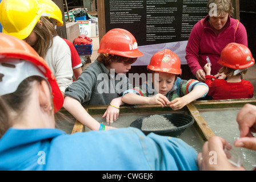
[[[207,3],[208,14],[216,10],[217,10],[217,13],[216,13],[217,16],[221,14],[226,14],[226,13],[232,16],[234,13],[234,7],[232,6],[232,1],[231,0],[209,0]]]

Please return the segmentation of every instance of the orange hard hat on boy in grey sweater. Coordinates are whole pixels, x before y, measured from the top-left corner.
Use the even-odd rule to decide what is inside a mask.
[[[143,53],[138,51],[138,44],[134,36],[122,28],[114,28],[102,37],[98,53],[132,58],[143,56]]]

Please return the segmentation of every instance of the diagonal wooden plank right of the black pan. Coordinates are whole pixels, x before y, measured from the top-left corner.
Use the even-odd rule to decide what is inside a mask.
[[[195,119],[195,122],[197,123],[198,129],[201,131],[203,138],[208,140],[211,136],[214,136],[213,131],[210,129],[210,126],[207,125],[205,119],[203,119],[202,115],[197,110],[197,107],[188,104],[187,109],[189,109],[190,114]]]

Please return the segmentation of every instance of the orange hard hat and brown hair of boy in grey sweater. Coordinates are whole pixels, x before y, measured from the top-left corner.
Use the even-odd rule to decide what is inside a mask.
[[[109,65],[110,61],[125,62],[127,64],[134,63],[137,57],[143,56],[138,50],[138,43],[134,36],[127,30],[122,28],[114,28],[108,31],[99,43],[98,53],[100,53],[99,62]]]

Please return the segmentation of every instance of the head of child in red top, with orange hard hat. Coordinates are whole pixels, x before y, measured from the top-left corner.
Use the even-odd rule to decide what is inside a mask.
[[[251,67],[255,60],[248,47],[243,44],[229,43],[221,51],[221,59],[218,61],[222,65],[219,73],[227,76],[245,75],[247,69]]]

